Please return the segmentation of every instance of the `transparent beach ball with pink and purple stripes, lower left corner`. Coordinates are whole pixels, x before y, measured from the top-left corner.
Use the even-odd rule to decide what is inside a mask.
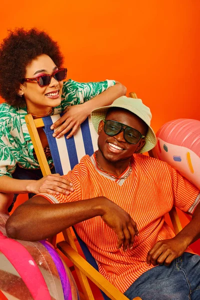
[[[0,213],[0,299],[79,300],[68,267],[46,240],[8,238]]]

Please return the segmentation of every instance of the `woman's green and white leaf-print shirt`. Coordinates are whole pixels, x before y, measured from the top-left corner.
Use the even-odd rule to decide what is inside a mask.
[[[79,83],[69,79],[64,81],[61,103],[54,107],[54,114],[61,113],[68,105],[81,104],[108,87],[114,80]],[[26,169],[38,169],[38,161],[33,156],[33,145],[25,123],[26,107],[0,104],[0,176],[12,177],[16,164]],[[48,159],[52,165],[52,159]]]

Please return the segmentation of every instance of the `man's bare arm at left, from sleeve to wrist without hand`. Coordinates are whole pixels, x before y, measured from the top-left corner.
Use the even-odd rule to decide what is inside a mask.
[[[51,204],[42,196],[34,196],[18,206],[6,222],[9,237],[39,240],[52,236],[71,225],[100,215],[103,199]]]

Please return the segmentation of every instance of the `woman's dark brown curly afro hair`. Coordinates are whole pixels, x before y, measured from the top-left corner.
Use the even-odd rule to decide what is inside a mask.
[[[0,44],[0,96],[13,106],[25,106],[24,97],[18,96],[20,81],[26,66],[38,55],[48,55],[56,66],[62,65],[63,56],[57,42],[36,28],[17,28],[9,31]]]

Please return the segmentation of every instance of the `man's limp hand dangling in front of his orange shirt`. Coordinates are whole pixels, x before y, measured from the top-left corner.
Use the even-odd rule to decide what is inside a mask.
[[[117,234],[117,248],[119,249],[123,244],[124,252],[127,247],[131,250],[134,236],[139,234],[136,223],[125,210],[114,202],[108,200],[104,207],[105,213],[101,215],[101,218]]]

